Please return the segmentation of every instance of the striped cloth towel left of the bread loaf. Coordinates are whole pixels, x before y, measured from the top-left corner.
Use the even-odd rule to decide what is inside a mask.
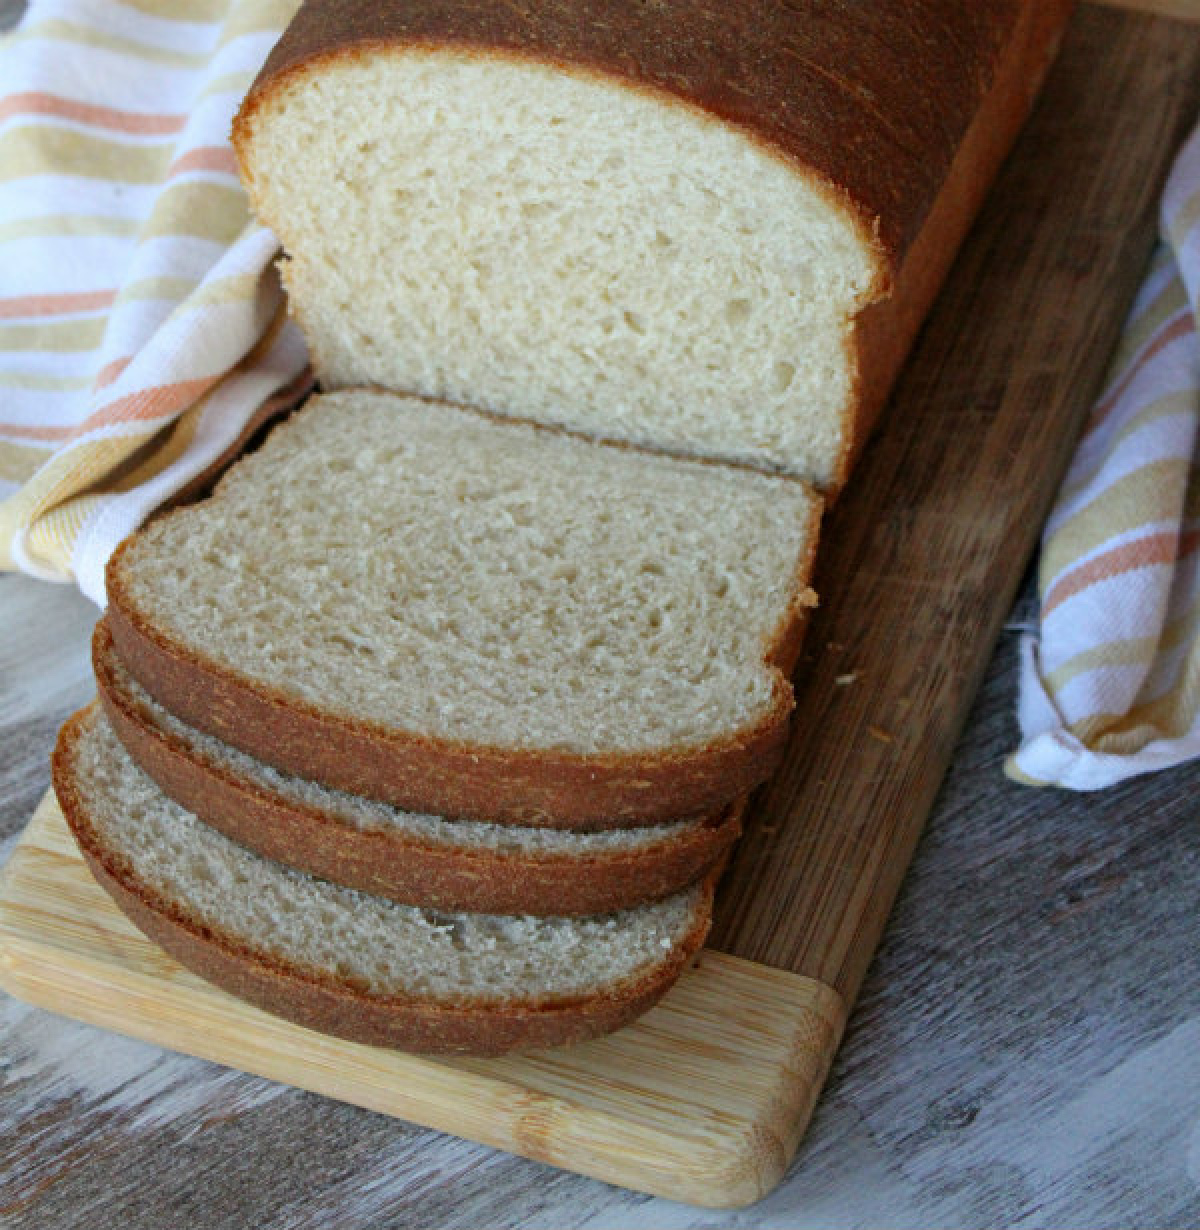
[[[33,0],[0,42],[0,568],[113,547],[307,384],[229,128],[298,0]]]

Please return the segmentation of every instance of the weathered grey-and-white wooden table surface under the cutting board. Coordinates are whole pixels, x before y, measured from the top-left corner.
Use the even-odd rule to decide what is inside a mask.
[[[0,28],[20,7],[0,0]],[[808,1141],[752,1210],[622,1192],[0,993],[0,1226],[1200,1224],[1200,765],[1094,797],[1007,782],[1024,604]],[[0,862],[91,696],[95,616],[0,577]]]

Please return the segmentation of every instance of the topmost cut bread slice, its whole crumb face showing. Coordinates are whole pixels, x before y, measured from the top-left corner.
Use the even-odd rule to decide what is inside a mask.
[[[108,621],[160,704],[288,772],[658,824],[778,761],[819,514],[795,480],[337,394],[123,544]]]

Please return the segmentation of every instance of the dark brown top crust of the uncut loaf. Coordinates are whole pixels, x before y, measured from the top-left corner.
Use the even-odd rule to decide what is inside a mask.
[[[306,0],[237,128],[293,70],[380,44],[599,73],[711,113],[810,169],[874,237],[882,292],[1020,12],[1020,0]]]

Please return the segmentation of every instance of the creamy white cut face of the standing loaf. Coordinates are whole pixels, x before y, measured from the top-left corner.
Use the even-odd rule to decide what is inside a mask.
[[[584,69],[379,47],[268,79],[235,143],[327,389],[839,480],[879,255],[745,133]]]

